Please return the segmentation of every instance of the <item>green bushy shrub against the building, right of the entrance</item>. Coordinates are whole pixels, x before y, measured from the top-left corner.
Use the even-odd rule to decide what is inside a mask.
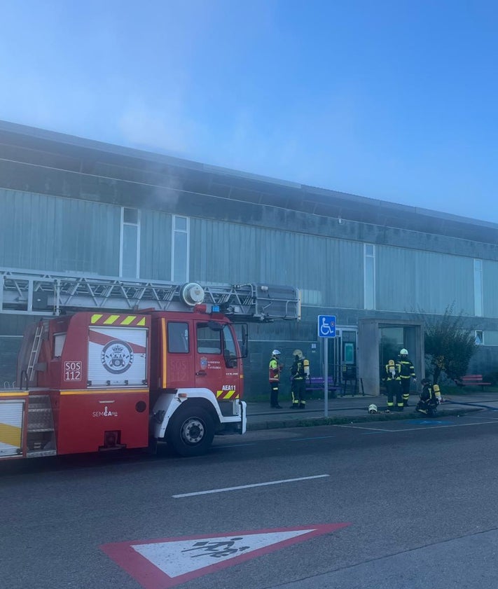
[[[443,317],[426,323],[425,353],[430,356],[433,382],[441,373],[458,380],[466,374],[469,362],[477,351],[473,329],[465,326],[462,312],[454,313],[455,303],[448,305]]]

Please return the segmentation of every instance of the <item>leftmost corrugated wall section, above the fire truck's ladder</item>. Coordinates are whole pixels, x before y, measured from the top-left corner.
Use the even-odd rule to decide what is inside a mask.
[[[119,272],[120,207],[0,189],[0,265]]]

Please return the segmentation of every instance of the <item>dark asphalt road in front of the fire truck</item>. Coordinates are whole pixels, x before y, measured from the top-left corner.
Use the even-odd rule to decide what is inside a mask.
[[[497,456],[498,413],[484,410],[254,431],[192,459],[2,462],[0,585],[495,589]],[[131,543],[191,572],[158,575]]]

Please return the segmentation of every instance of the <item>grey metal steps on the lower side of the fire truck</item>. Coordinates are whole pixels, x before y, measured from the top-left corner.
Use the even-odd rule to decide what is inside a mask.
[[[28,458],[55,456],[55,431],[48,394],[30,394],[27,412]]]

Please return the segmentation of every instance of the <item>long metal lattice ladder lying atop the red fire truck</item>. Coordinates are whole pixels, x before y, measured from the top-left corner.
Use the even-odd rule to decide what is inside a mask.
[[[197,294],[202,291],[202,296]],[[174,284],[0,268],[0,313],[60,315],[82,309],[179,311],[205,304],[237,320],[300,319],[300,293],[262,283]]]

